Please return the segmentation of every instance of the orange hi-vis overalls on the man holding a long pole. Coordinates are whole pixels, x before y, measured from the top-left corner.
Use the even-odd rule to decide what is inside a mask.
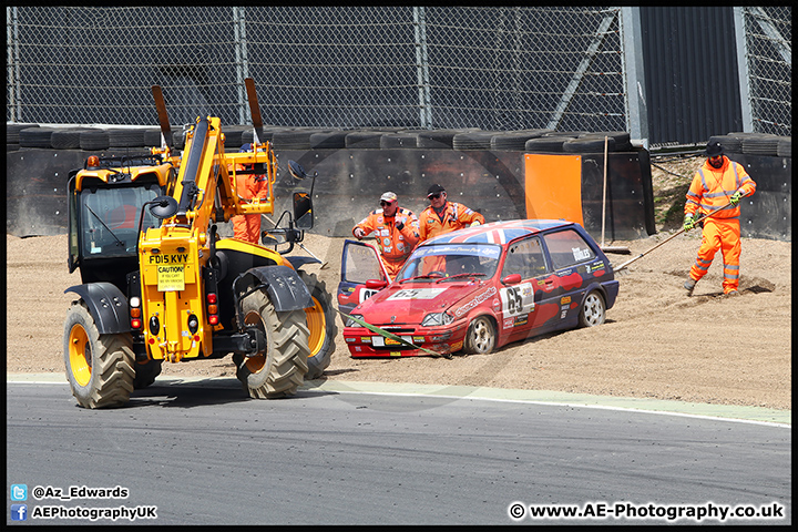
[[[687,191],[685,215],[692,216],[696,211],[699,214],[707,214],[728,205],[732,195],[737,191],[741,191],[744,196],[756,192],[756,183],[743,165],[729,161],[724,155],[722,157],[723,164],[719,168],[715,168],[709,161],[706,161],[696,172],[689,191]],[[706,275],[719,249],[724,260],[724,294],[737,290],[741,247],[739,215],[740,208],[737,204],[704,219],[702,245],[698,248],[696,262],[690,268],[690,279],[697,282]]]

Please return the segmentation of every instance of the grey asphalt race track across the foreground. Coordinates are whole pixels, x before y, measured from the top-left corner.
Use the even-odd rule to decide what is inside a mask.
[[[340,381],[253,400],[235,379],[85,410],[63,380],[8,377],[7,500],[27,485],[29,523],[791,523],[790,412]]]

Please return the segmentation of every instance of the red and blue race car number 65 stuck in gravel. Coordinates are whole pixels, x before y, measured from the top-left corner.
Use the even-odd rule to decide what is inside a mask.
[[[390,284],[379,266],[374,246],[345,243],[340,309],[442,355],[603,324],[618,293],[595,241],[563,221],[494,222],[431,238]],[[352,357],[428,355],[354,319],[344,338]]]

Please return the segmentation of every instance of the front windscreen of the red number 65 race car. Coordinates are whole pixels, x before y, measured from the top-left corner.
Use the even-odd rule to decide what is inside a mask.
[[[478,276],[490,278],[495,274],[501,246],[495,244],[438,244],[417,248],[396,280]]]

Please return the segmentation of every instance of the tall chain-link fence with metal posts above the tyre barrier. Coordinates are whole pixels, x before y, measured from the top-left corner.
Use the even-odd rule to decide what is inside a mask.
[[[791,8],[745,8],[756,131],[791,132]],[[7,122],[630,131],[621,8],[9,7]]]

